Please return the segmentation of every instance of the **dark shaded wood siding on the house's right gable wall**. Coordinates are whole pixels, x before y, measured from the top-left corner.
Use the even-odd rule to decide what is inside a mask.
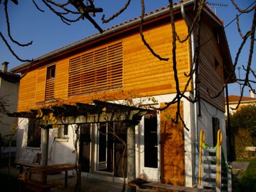
[[[203,23],[201,30],[201,42],[207,42],[200,49],[200,91],[202,99],[213,104],[221,111],[225,111],[225,96],[221,93],[220,97],[211,99],[212,96],[220,92],[223,80],[223,62],[218,47],[218,42],[214,37],[211,26]],[[214,37],[214,38],[212,38]],[[209,40],[211,39],[211,40]],[[218,66],[216,66],[216,62]]]

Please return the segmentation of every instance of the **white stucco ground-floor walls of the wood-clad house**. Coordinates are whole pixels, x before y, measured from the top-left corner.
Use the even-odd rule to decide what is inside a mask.
[[[186,96],[192,96],[191,93],[186,93]],[[175,94],[168,94],[168,95],[158,95],[154,98],[157,100],[156,107],[159,106],[160,103],[163,102],[170,102],[175,97]],[[186,124],[186,127],[188,130],[184,129],[184,150],[185,150],[185,174],[186,174],[186,186],[193,186],[195,184],[195,104],[191,104],[187,100],[182,100],[183,106],[184,106],[184,122]],[[213,107],[211,104],[205,102],[204,100],[201,101],[201,113],[202,118],[197,118],[198,120],[198,134],[201,129],[205,131],[205,142],[209,145],[212,145],[212,116],[215,116],[219,118],[220,120],[220,128],[223,132],[223,148],[226,153],[226,134],[225,134],[225,114]],[[148,104],[148,102],[144,102],[145,104]],[[159,120],[159,116],[158,116]],[[20,129],[19,129],[19,143],[20,148],[22,150],[28,150],[26,148],[26,136],[28,134],[28,120],[20,118]],[[49,157],[51,157],[51,162],[49,164],[60,164],[60,163],[74,163],[75,162],[75,156],[72,153],[74,151],[74,139],[76,137],[74,136],[74,129],[75,125],[69,125],[68,126],[68,139],[67,140],[56,140],[53,142],[52,138],[52,129],[49,132]],[[143,173],[143,162],[141,161],[141,157],[143,156],[143,151],[141,150],[141,129],[143,127],[142,123],[140,123],[138,126],[136,126],[136,176],[140,175],[140,173]],[[158,125],[158,140],[160,140],[160,134],[159,134],[159,125]],[[97,132],[97,131],[96,131]],[[96,138],[97,134],[95,132],[92,132],[92,136]],[[93,143],[92,138],[92,143]],[[93,144],[94,145],[94,144]],[[98,179],[104,179],[102,175],[99,175],[97,177],[95,175],[95,158],[97,154],[97,146],[93,148],[92,145],[92,159],[93,163],[91,164],[91,168],[94,170],[92,174],[86,173],[86,177],[94,177]],[[34,151],[38,150],[40,152],[41,148],[34,148]],[[51,152],[51,156],[50,156]],[[159,146],[159,155],[160,157],[160,146]],[[227,154],[227,153],[226,153]],[[227,156],[226,156],[227,157]],[[94,158],[94,159],[93,159]],[[159,162],[161,159],[159,159]],[[145,172],[147,173],[147,171]],[[150,172],[147,173],[150,175]],[[158,174],[160,174],[160,168],[158,170]],[[107,174],[108,175],[108,174]],[[108,175],[111,177],[111,174]],[[157,177],[159,178],[160,175]],[[107,178],[107,177],[106,177]],[[105,179],[106,179],[105,178]],[[116,180],[117,181],[117,180]],[[120,180],[122,181],[122,180]]]

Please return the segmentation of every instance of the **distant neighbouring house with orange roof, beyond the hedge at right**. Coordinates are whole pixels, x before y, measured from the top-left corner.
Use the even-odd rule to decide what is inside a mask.
[[[249,104],[256,104],[256,98],[253,94],[252,91],[250,91],[250,96],[251,97],[242,97],[239,95],[229,95],[228,96],[228,105],[229,105],[229,113],[235,113],[237,110],[243,108],[243,106],[249,105]],[[239,103],[239,100],[241,99],[241,102],[237,107],[237,104]],[[225,105],[226,105],[226,112],[225,112],[225,116],[227,116],[227,98],[225,98]]]

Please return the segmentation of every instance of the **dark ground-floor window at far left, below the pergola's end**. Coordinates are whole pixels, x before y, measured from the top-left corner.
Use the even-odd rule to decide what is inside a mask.
[[[39,127],[35,119],[29,119],[27,147],[40,147],[40,145],[41,128]]]

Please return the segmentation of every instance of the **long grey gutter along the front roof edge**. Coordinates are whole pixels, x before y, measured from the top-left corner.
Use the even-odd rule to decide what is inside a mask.
[[[190,0],[190,1],[186,1],[184,3],[179,3],[179,4],[175,5],[175,6],[173,6],[173,9],[174,10],[179,10],[181,6],[189,6],[191,4],[194,4],[194,2],[195,2],[195,0]],[[170,12],[169,9],[164,9],[164,10],[161,10],[161,11],[159,11],[157,13],[153,13],[151,15],[147,15],[146,17],[144,17],[144,21],[151,20],[151,19],[154,19],[156,17],[160,17],[162,15],[166,15],[169,12]],[[67,45],[66,47],[63,47],[63,48],[58,49],[56,51],[50,52],[48,54],[45,54],[44,56],[40,56],[40,57],[36,58],[33,61],[33,63],[39,62],[39,61],[43,61],[43,60],[47,60],[47,59],[51,58],[52,56],[56,56],[57,54],[61,54],[61,53],[65,52],[65,51],[68,51],[70,49],[79,47],[80,45],[87,44],[89,42],[92,42],[93,40],[97,40],[97,39],[102,38],[104,36],[111,35],[111,34],[116,33],[118,31],[122,31],[123,29],[130,28],[131,26],[135,26],[137,24],[140,24],[140,19],[133,20],[132,22],[129,22],[129,23],[124,24],[122,26],[118,26],[116,28],[109,29],[108,31],[104,31],[103,33],[100,33],[100,34],[97,34],[95,36],[92,36],[91,38],[86,38],[86,39],[81,40],[79,42],[76,42],[74,44]],[[19,65],[17,67],[11,68],[10,72],[17,72],[18,70],[20,70],[22,68],[25,68],[25,67],[28,67],[29,65],[31,65],[31,62],[27,62],[27,63],[24,63],[24,64]]]

